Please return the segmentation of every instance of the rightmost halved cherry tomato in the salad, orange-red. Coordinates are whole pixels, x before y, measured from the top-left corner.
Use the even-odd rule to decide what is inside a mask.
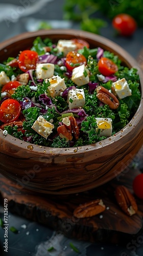
[[[106,57],[101,57],[98,62],[99,71],[104,76],[109,76],[111,74],[114,74],[118,68],[115,65],[115,63]]]

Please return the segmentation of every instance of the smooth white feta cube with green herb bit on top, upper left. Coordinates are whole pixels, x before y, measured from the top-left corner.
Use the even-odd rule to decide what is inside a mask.
[[[36,78],[45,79],[54,75],[54,64],[52,63],[37,63]]]

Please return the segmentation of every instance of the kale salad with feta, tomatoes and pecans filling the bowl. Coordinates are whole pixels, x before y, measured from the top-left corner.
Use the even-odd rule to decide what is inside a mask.
[[[130,121],[141,98],[135,68],[87,41],[35,38],[0,64],[0,129],[50,147],[93,144]]]

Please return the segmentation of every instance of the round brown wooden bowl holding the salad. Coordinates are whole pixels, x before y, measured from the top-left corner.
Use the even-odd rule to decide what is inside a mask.
[[[50,37],[54,41],[83,38],[89,42],[90,47],[101,47],[117,54],[123,65],[137,67],[137,62],[114,42],[78,30],[44,30],[15,36],[0,45],[1,62],[31,47],[36,36]],[[139,74],[143,92],[143,75],[140,70]],[[10,135],[5,137],[0,130],[1,173],[16,182],[19,193],[25,187],[40,193],[71,194],[108,182],[127,167],[142,145],[142,97],[134,117],[123,130],[88,146],[51,148],[31,145]]]

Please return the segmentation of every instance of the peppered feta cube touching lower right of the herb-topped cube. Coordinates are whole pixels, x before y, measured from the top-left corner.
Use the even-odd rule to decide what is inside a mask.
[[[61,92],[66,89],[66,85],[64,82],[64,78],[60,76],[52,76],[49,79],[50,86],[47,88],[47,93],[50,93],[50,96],[54,98],[55,96],[59,96]]]

